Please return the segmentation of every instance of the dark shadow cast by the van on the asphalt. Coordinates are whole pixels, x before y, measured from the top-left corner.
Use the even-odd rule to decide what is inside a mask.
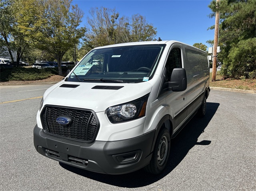
[[[160,175],[152,175],[150,173],[146,173],[146,171],[143,169],[124,175],[107,175],[86,171],[72,167],[70,165],[66,165],[64,163],[60,163],[60,165],[68,171],[109,185],[128,188],[150,185],[162,179],[173,169],[175,169],[175,167],[185,158],[192,147],[195,145],[211,144],[210,140],[203,140],[201,142],[197,141],[198,137],[204,133],[204,129],[208,126],[219,105],[219,103],[207,102],[207,110],[204,118],[198,118],[195,116],[183,128],[183,130],[174,139],[171,140],[169,163],[166,166],[165,171]]]

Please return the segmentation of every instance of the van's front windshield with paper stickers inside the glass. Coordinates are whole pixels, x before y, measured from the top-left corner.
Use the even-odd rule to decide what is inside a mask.
[[[165,45],[132,45],[92,50],[67,81],[140,83],[150,80]]]

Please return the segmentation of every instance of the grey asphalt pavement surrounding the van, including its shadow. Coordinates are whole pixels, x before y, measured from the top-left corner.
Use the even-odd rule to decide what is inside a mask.
[[[50,86],[0,88],[0,190],[256,190],[256,94],[212,89],[206,116],[193,118],[171,141],[163,174],[139,170],[105,175],[36,152],[36,112],[40,97]]]

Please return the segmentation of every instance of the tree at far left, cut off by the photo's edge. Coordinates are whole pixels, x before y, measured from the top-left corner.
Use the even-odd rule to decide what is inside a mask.
[[[16,52],[18,63],[22,55],[30,49],[30,43],[26,41],[26,34],[20,26],[28,27],[34,20],[27,16],[33,14],[32,2],[33,0],[2,0],[0,3],[1,48],[7,48],[12,62],[14,62],[12,52]]]

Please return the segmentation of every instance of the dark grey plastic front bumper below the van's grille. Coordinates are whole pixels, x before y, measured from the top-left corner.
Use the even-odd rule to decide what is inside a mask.
[[[119,141],[82,143],[46,134],[36,125],[34,146],[48,158],[98,173],[124,174],[146,166],[155,131]]]

